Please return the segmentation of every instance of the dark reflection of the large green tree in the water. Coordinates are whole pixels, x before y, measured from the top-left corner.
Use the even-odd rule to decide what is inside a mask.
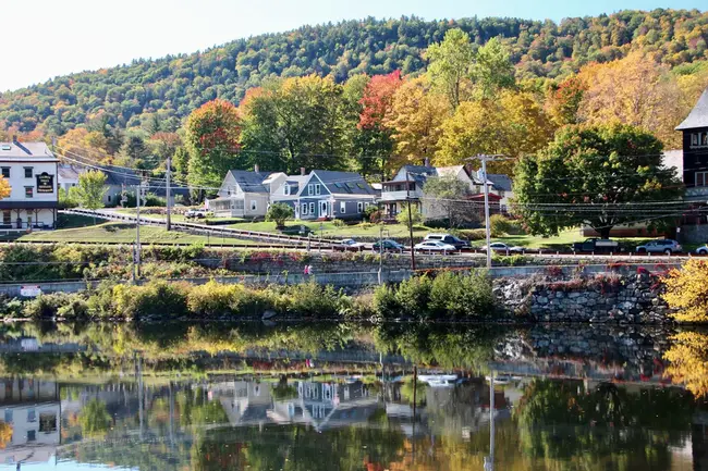
[[[613,384],[586,389],[577,381],[536,379],[514,417],[523,451],[549,469],[560,460],[587,470],[634,470],[669,469],[669,447],[683,445],[692,412],[691,396],[679,389],[627,393]]]

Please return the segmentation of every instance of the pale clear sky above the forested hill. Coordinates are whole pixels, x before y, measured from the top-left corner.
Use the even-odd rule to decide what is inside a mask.
[[[701,7],[706,9],[705,0],[0,0],[0,90],[133,59],[188,53],[263,33],[367,16],[558,22],[624,9]]]

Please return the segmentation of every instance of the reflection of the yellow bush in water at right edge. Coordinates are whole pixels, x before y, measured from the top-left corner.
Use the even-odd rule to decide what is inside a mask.
[[[671,362],[667,374],[685,384],[696,396],[708,396],[708,333],[681,332],[673,338],[664,358]]]

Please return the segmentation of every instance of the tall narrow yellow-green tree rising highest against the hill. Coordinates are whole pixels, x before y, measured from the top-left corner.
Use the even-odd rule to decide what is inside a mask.
[[[430,82],[456,109],[469,94],[474,61],[469,35],[460,28],[449,29],[442,42],[428,48],[427,59]]]

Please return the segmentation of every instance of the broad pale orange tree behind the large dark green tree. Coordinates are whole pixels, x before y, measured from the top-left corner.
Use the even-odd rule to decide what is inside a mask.
[[[588,84],[578,111],[582,121],[631,124],[655,134],[668,149],[681,147],[681,134],[674,127],[685,113],[668,65],[633,52],[618,61],[589,64],[578,78]]]

